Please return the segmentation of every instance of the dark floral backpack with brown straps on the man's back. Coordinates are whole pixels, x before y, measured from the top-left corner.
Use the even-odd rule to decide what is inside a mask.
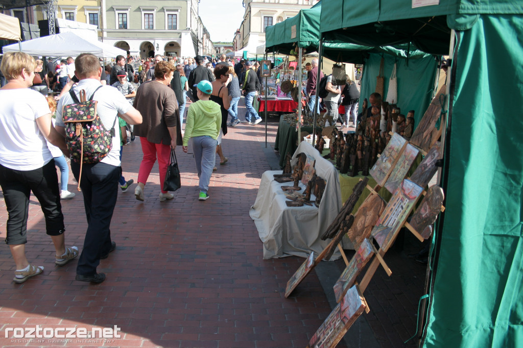
[[[78,178],[78,191],[82,176],[82,164],[98,163],[106,157],[112,148],[112,138],[116,135],[115,122],[107,130],[101,122],[96,106],[98,101],[93,101],[93,95],[86,100],[85,90],[80,91],[80,100],[71,89],[69,94],[74,103],[64,106],[62,117],[65,124],[65,143],[71,152],[71,159],[80,164],[80,178]]]

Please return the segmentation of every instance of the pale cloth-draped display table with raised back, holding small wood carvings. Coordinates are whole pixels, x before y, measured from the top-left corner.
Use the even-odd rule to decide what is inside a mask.
[[[280,184],[273,175],[281,171],[266,171],[261,177],[256,201],[249,211],[263,242],[264,259],[291,255],[306,258],[311,251],[320,253],[329,243],[329,240],[321,240],[320,237],[342,208],[336,168],[306,142],[302,142],[295,151],[292,164],[296,161],[295,155],[302,152],[316,159],[316,175],[327,181],[322,201],[319,207],[314,204],[288,207],[285,192],[280,187],[292,186],[292,182]],[[300,187],[303,184],[300,183]],[[311,195],[311,200],[314,199]],[[336,250],[331,260],[339,257],[340,253]]]

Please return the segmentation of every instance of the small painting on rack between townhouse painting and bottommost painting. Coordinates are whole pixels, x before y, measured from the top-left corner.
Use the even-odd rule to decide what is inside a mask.
[[[347,293],[347,290],[354,285],[356,277],[363,267],[365,267],[367,262],[369,262],[373,253],[370,241],[368,239],[363,239],[353,258],[350,259],[349,264],[345,270],[343,270],[342,275],[339,276],[333,286],[336,302],[342,300],[343,296]]]

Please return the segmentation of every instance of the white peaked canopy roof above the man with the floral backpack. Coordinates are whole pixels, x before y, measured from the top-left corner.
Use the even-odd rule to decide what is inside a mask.
[[[97,57],[111,58],[117,55],[127,55],[126,51],[117,47],[100,41],[86,40],[72,32],[64,32],[24,41],[21,42],[21,49],[18,47],[18,44],[4,46],[4,53],[20,50],[30,55],[46,57],[76,57],[81,53],[92,53]]]

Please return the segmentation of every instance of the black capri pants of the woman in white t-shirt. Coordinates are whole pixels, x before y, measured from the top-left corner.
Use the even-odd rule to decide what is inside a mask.
[[[27,243],[27,217],[31,191],[42,207],[46,219],[46,233],[50,236],[64,233],[58,175],[53,159],[43,167],[33,170],[15,170],[0,165],[0,187],[4,192],[9,214],[5,239],[7,244]]]

